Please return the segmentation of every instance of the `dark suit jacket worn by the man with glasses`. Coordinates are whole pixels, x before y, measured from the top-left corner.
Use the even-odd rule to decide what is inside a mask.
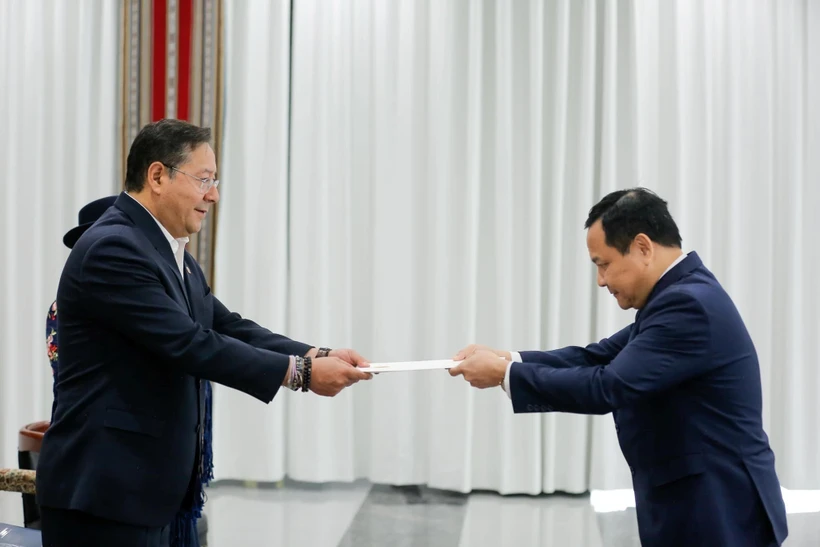
[[[270,402],[287,355],[273,334],[185,276],[156,221],[120,195],[76,243],[57,291],[60,375],[37,467],[41,505],[140,526],[171,522],[190,495],[202,431],[200,379]]]

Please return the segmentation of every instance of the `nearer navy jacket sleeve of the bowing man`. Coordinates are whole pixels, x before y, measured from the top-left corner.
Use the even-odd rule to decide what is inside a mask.
[[[562,357],[516,363],[510,371],[515,412],[606,414],[662,393],[714,366],[709,317],[691,295],[666,291],[658,311],[608,365],[567,368]]]

